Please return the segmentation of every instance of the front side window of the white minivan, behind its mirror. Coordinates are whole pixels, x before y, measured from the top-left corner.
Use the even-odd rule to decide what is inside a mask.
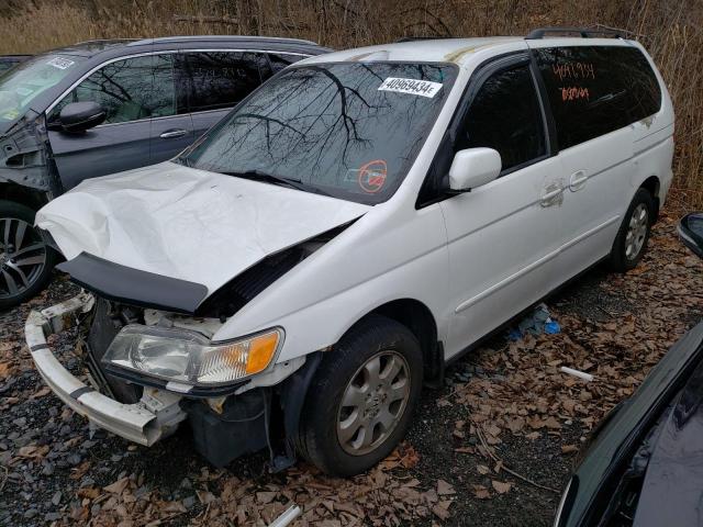
[[[471,101],[459,133],[455,150],[493,148],[503,171],[544,156],[542,111],[528,66],[491,75]]]

